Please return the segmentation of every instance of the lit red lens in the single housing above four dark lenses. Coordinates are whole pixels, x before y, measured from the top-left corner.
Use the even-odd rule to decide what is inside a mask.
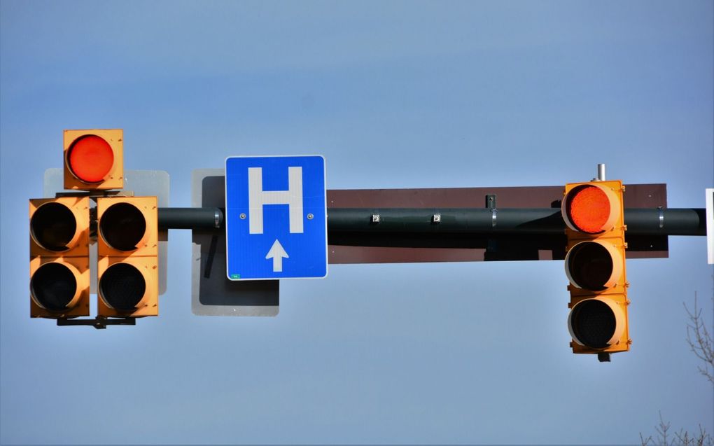
[[[104,138],[87,135],[72,143],[67,154],[69,170],[85,183],[99,183],[114,165],[114,151]]]

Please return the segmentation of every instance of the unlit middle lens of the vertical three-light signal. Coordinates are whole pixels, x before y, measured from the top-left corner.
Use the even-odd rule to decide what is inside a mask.
[[[579,243],[568,253],[568,271],[575,285],[585,290],[601,291],[613,275],[613,258],[600,243]]]

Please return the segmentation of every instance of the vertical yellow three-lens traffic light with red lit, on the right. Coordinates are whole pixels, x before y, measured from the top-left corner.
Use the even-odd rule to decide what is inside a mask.
[[[570,285],[568,330],[573,353],[598,354],[630,349],[628,283],[621,181],[565,185],[563,220],[568,226],[565,273]]]

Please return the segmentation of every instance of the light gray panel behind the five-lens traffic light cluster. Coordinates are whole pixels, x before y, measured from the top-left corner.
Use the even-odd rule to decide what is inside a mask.
[[[124,189],[135,196],[156,196],[159,208],[169,206],[169,173],[166,171],[124,171]],[[61,168],[49,168],[45,171],[43,194],[45,198],[54,198],[64,189],[64,171]],[[169,258],[169,233],[159,231],[159,294],[166,293],[166,259]],[[89,273],[96,278],[96,243],[89,245]],[[90,293],[96,294],[96,280],[91,280]]]

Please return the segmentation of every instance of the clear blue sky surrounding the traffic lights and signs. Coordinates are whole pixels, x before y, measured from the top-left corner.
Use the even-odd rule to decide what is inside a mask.
[[[65,128],[124,128],[125,167],[319,153],[328,188],[552,186],[596,163],[712,187],[711,1],[0,1],[0,443],[635,444],[658,411],[714,431],[683,302],[705,238],[628,261],[629,353],[570,353],[562,261],[331,265],[276,318],[191,313],[169,235],[159,318],[29,318],[28,198]]]

